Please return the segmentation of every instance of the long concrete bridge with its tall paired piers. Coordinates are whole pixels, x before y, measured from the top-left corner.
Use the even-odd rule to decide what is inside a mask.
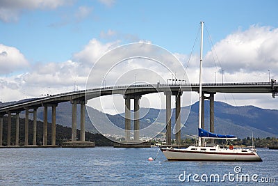
[[[278,84],[272,79],[271,82],[251,82],[251,83],[224,83],[224,84],[202,84],[202,102],[210,100],[210,132],[214,132],[214,95],[215,93],[271,93],[272,97],[278,93]],[[134,137],[133,142],[139,141],[139,100],[142,95],[149,93],[163,92],[166,97],[166,143],[171,143],[171,96],[176,97],[176,127],[180,128],[181,95],[184,91],[199,91],[199,84],[138,84],[130,86],[110,86],[101,88],[91,88],[82,91],[72,91],[49,95],[44,98],[33,98],[22,100],[15,104],[8,104],[0,107],[0,146],[3,145],[3,116],[8,115],[7,146],[10,146],[11,117],[16,117],[15,123],[15,146],[19,146],[19,113],[25,111],[25,139],[24,146],[28,146],[28,118],[29,113],[33,114],[33,146],[37,145],[37,109],[44,107],[43,125],[43,146],[47,144],[47,107],[52,108],[51,112],[51,146],[56,145],[56,107],[60,102],[72,103],[72,142],[76,142],[76,104],[81,105],[81,141],[85,142],[85,103],[93,98],[103,95],[120,94],[125,100],[125,140],[131,142],[131,99],[134,101]],[[204,104],[202,104],[204,105]],[[202,107],[204,112],[204,107]],[[204,114],[202,114],[202,127],[204,125]],[[175,143],[181,143],[181,132],[175,134]]]

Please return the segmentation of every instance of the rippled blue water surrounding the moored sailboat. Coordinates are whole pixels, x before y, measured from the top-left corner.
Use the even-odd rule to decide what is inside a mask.
[[[278,150],[258,150],[263,162],[168,162],[158,148],[0,148],[0,185],[277,185]],[[241,172],[235,173],[234,167]],[[199,183],[190,177],[199,175]],[[258,174],[276,183],[202,181],[200,176]],[[235,177],[236,178],[236,177]],[[259,180],[257,178],[257,180]],[[181,176],[181,180],[183,175]],[[273,182],[273,181],[272,181]]]

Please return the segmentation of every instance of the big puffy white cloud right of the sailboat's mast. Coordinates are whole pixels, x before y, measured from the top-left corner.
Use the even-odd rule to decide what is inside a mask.
[[[278,29],[270,26],[250,26],[246,31],[232,33],[214,49],[225,72],[265,72],[278,70]],[[217,59],[217,56],[214,58]],[[213,54],[206,54],[208,63],[214,66]],[[218,64],[218,68],[221,66]]]

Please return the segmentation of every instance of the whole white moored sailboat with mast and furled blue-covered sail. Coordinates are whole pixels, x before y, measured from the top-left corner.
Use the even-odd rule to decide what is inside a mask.
[[[202,139],[237,139],[234,135],[214,134],[202,129],[202,58],[203,58],[203,30],[204,22],[201,22],[201,50],[199,67],[199,127],[198,144],[188,148],[161,148],[167,160],[183,161],[243,161],[261,162],[261,157],[256,153],[254,145],[252,148],[221,148],[219,145],[206,146]]]

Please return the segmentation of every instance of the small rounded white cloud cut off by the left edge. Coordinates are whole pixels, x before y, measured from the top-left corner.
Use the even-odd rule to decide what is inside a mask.
[[[0,75],[28,68],[29,63],[15,47],[0,44]]]

